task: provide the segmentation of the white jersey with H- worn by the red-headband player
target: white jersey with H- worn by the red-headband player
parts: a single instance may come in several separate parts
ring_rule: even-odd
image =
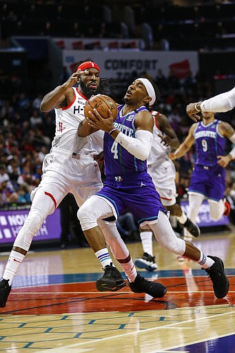
[[[88,137],[79,137],[77,130],[84,118],[84,106],[88,101],[77,88],[74,99],[65,108],[57,108],[56,131],[52,141],[52,148],[61,148],[68,152],[95,155],[103,151],[103,131],[99,130]]]

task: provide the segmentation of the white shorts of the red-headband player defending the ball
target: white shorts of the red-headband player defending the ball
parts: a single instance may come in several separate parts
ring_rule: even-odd
[[[57,208],[68,192],[71,192],[79,207],[89,196],[101,190],[103,183],[99,164],[92,156],[72,157],[71,152],[50,152],[43,160],[41,183],[31,193],[34,198],[38,188],[50,194]]]

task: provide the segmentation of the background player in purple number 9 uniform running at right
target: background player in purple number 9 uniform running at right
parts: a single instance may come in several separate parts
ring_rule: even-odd
[[[234,159],[235,148],[225,156],[227,139],[234,143],[235,132],[229,123],[215,119],[213,112],[202,112],[203,121],[191,126],[190,131],[171,159],[182,157],[193,143],[196,144],[196,162],[192,172],[187,215],[195,222],[203,199],[207,197],[212,219],[229,215],[229,203],[223,201],[225,192],[225,167]],[[190,240],[190,234],[185,231]],[[192,238],[191,238],[192,239]]]

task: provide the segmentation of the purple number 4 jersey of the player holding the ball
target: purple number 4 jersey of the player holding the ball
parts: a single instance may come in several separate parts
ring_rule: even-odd
[[[130,137],[135,137],[136,128],[134,127],[134,118],[138,112],[147,110],[145,106],[141,106],[137,110],[123,116],[123,105],[119,105],[114,128],[118,128]],[[148,111],[148,110],[147,110]],[[143,172],[147,170],[146,161],[141,161],[130,154],[117,143],[107,132],[105,132],[103,153],[105,161],[105,175],[125,175],[132,172]]]

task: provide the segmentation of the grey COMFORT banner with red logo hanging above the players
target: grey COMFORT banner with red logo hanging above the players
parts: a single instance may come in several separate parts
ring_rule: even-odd
[[[79,61],[96,61],[101,68],[101,77],[126,81],[132,72],[139,76],[143,72],[156,78],[157,71],[162,70],[165,77],[170,71],[179,79],[189,72],[195,76],[198,72],[198,53],[185,51],[134,51],[134,50],[63,50],[63,66],[70,73],[74,72]]]

